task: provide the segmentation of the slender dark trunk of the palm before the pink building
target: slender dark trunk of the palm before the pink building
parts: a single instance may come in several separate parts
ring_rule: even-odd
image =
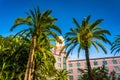
[[[92,73],[91,73],[90,59],[89,59],[89,50],[87,46],[85,49],[85,56],[86,56],[86,62],[87,62],[87,68],[88,68],[88,80],[93,80]]]

